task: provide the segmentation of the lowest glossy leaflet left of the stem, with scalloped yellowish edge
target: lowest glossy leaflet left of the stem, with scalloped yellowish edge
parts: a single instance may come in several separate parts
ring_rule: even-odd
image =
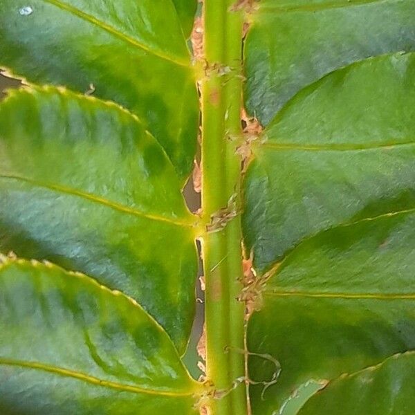
[[[138,304],[50,264],[3,261],[1,414],[196,414],[198,385]]]

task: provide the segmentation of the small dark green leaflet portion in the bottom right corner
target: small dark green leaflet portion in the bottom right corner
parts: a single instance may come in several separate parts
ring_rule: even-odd
[[[376,367],[334,380],[299,415],[413,414],[414,370],[414,353],[393,356]]]

